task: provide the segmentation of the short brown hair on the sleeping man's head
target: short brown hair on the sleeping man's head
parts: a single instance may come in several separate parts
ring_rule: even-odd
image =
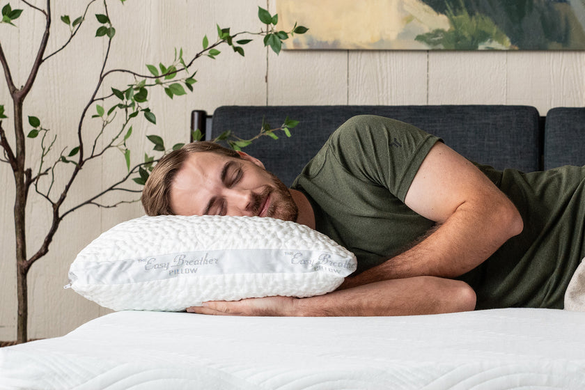
[[[171,185],[185,159],[192,153],[198,152],[241,158],[235,150],[209,141],[187,143],[182,148],[164,155],[155,165],[142,190],[141,201],[146,214],[150,216],[175,214],[171,208]]]

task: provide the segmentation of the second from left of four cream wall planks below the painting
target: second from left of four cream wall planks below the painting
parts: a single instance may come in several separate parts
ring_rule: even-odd
[[[348,73],[349,104],[426,104],[426,52],[352,51]]]

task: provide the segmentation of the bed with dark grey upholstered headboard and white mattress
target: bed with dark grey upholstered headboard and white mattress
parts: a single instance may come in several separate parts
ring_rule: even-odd
[[[299,120],[292,138],[246,150],[290,185],[328,134],[356,114],[414,123],[497,168],[585,165],[584,109],[545,117],[512,106],[221,107],[208,134],[255,134],[263,117],[272,127],[286,116]],[[249,318],[118,311],[63,337],[0,349],[0,389],[162,388],[585,389],[585,313]]]

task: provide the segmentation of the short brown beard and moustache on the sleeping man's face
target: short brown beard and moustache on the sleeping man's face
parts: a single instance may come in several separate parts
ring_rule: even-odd
[[[263,199],[270,195],[272,201],[266,212],[266,217],[282,219],[283,221],[297,221],[299,208],[292,199],[290,191],[274,173],[268,171],[266,173],[270,176],[272,186],[267,186],[262,194],[255,195],[255,214],[260,211]]]

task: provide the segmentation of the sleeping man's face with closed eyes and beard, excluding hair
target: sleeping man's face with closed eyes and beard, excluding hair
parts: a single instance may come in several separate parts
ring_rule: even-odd
[[[211,152],[192,153],[171,185],[178,215],[259,216],[296,221],[298,208],[288,188],[263,164]]]

